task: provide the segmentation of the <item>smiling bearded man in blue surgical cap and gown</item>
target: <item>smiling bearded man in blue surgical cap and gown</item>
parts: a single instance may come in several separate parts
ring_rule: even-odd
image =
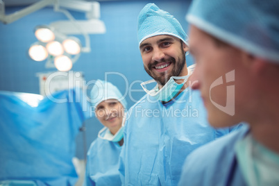
[[[187,35],[179,22],[155,4],[138,17],[144,69],[153,78],[142,83],[146,95],[129,110],[121,151],[122,185],[178,185],[186,156],[198,146],[230,132],[214,130],[198,91],[187,79]],[[155,83],[148,90],[149,83]]]

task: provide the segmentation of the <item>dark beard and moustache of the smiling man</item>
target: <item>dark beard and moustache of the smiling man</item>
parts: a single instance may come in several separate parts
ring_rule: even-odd
[[[168,58],[168,59],[164,58],[160,61],[160,62],[171,62],[174,65],[174,68],[171,70],[171,72],[169,74],[167,74],[168,71],[164,71],[164,72],[160,73],[159,76],[157,76],[153,73],[152,66],[157,65],[159,63],[158,61],[153,62],[153,64],[149,64],[148,67],[144,66],[144,69],[147,72],[147,74],[149,74],[149,76],[151,76],[155,81],[160,83],[160,85],[162,85],[162,86],[164,86],[167,83],[167,81],[169,81],[169,78],[171,78],[171,76],[179,76],[180,72],[183,70],[183,68],[186,64],[185,53],[184,53],[182,47],[181,47],[181,49],[182,49],[182,52],[181,52],[181,56],[178,57],[178,61],[176,61],[176,59],[172,58],[172,57]]]

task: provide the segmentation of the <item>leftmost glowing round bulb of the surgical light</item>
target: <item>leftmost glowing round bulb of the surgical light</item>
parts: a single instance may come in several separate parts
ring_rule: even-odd
[[[29,56],[35,61],[45,60],[47,59],[47,56],[49,56],[47,49],[41,44],[34,44],[31,46],[28,53]]]

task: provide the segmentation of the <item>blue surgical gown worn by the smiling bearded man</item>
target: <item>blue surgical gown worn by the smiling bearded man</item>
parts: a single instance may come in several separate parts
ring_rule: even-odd
[[[230,132],[214,130],[197,90],[185,89],[162,104],[149,95],[130,108],[120,157],[123,185],[178,185],[194,149]]]

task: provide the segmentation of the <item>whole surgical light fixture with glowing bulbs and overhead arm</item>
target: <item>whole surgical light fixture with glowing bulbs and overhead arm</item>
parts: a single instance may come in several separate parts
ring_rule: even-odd
[[[10,15],[6,15],[5,11],[1,10],[0,7],[0,22],[6,24],[14,22],[20,17],[49,5],[53,6],[54,11],[62,12],[69,20],[36,26],[35,37],[37,37],[42,46],[30,47],[28,53],[36,61],[47,59],[46,68],[56,67],[60,71],[68,71],[81,56],[81,52],[89,53],[91,51],[89,34],[105,33],[105,24],[99,20],[101,14],[98,2],[40,0]],[[66,9],[85,12],[86,19],[76,20]],[[68,35],[83,35],[85,46],[82,46],[78,38],[69,37]]]

